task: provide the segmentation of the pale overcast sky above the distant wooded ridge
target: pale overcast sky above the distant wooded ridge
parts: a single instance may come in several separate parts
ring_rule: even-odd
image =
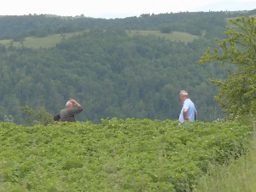
[[[3,0],[0,15],[52,14],[115,18],[179,11],[256,9],[256,0]]]

